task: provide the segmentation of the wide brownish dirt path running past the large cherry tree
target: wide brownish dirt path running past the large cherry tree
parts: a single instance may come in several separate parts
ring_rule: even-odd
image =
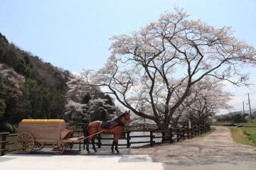
[[[256,147],[233,142],[228,128],[218,127],[206,137],[142,149],[130,154],[149,154],[165,169],[256,169]]]

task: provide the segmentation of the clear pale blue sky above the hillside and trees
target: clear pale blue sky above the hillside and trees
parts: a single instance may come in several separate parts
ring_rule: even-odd
[[[112,35],[138,30],[156,21],[161,13],[174,11],[174,6],[216,28],[232,26],[237,38],[256,47],[256,1],[253,0],[1,0],[0,33],[46,62],[81,72],[103,66],[110,55]],[[256,82],[256,69],[250,72],[252,81]],[[253,88],[228,86],[228,91],[236,95],[231,103],[235,106],[233,111],[242,108],[247,92],[252,93],[252,107],[256,108]]]

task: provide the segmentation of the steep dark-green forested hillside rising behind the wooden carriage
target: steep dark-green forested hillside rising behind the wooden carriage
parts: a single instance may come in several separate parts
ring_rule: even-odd
[[[63,118],[69,72],[10,43],[0,33],[0,128],[23,118]]]

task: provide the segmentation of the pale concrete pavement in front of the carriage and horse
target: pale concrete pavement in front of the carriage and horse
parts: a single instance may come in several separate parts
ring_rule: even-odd
[[[148,155],[10,154],[0,157],[1,170],[161,170]]]

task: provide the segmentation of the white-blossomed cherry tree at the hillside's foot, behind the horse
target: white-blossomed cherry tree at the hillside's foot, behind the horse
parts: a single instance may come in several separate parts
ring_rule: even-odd
[[[68,123],[107,120],[120,112],[110,96],[103,94],[99,87],[88,86],[82,76],[72,75],[67,85],[65,119]]]

